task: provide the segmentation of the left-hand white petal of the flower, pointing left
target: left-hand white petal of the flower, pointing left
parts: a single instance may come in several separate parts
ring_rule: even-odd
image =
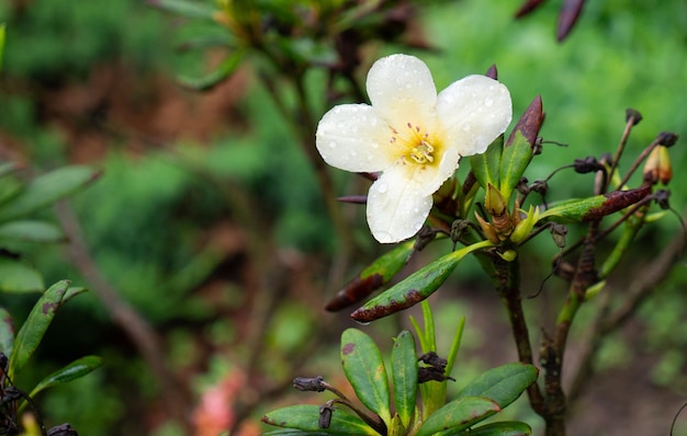
[[[391,153],[390,140],[390,127],[367,104],[333,107],[315,134],[325,162],[351,172],[382,171],[392,165],[397,156]]]

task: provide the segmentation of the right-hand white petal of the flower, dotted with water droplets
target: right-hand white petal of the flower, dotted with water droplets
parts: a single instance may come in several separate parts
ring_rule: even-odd
[[[486,76],[468,76],[441,91],[437,116],[447,147],[458,147],[461,156],[482,153],[510,124],[510,93]]]

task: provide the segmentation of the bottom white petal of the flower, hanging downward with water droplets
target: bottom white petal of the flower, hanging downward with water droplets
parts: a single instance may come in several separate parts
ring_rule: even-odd
[[[374,239],[393,243],[413,237],[425,223],[432,205],[431,194],[407,174],[408,167],[385,171],[368,193],[368,225]]]

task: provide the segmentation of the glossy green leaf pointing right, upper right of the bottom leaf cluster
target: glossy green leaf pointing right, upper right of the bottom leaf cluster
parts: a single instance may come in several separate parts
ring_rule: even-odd
[[[458,398],[484,397],[504,409],[537,381],[538,375],[539,371],[532,365],[519,362],[506,364],[483,372],[463,388]]]

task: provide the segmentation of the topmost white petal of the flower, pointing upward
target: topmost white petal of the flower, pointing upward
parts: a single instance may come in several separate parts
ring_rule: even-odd
[[[391,55],[379,59],[368,72],[372,107],[393,127],[407,123],[433,125],[437,88],[427,65],[415,56]]]

